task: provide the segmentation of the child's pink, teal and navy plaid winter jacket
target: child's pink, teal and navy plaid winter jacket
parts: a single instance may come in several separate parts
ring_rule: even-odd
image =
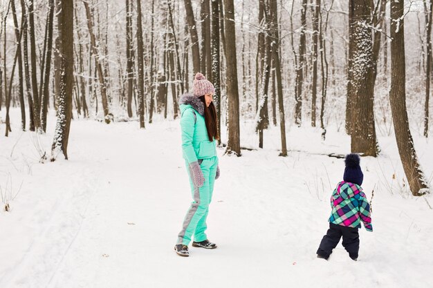
[[[370,204],[361,186],[344,181],[338,183],[331,196],[331,207],[329,222],[361,228],[362,221],[367,231],[373,231]]]

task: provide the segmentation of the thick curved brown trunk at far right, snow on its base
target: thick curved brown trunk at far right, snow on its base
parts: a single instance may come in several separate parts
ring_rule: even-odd
[[[398,153],[413,195],[428,192],[427,181],[416,157],[406,109],[404,1],[391,0],[391,90],[389,102],[394,120]]]

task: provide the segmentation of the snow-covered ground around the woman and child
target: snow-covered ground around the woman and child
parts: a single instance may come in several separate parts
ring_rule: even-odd
[[[70,160],[43,164],[55,118],[46,135],[12,124],[8,138],[0,128],[1,190],[19,191],[0,211],[1,288],[433,287],[433,197],[408,192],[392,135],[379,137],[380,157],[361,160],[374,232],[360,230],[358,262],[341,244],[329,261],[315,255],[344,171],[327,154],[350,150],[333,127],[326,142],[316,128],[289,128],[288,157],[278,157],[278,128],[265,132],[261,151],[228,157],[219,148],[208,218],[219,248],[190,247],[181,258],[173,247],[192,199],[178,121],[140,130],[75,119]],[[241,146],[257,148],[257,138],[243,123]],[[433,186],[432,139],[414,138]]]

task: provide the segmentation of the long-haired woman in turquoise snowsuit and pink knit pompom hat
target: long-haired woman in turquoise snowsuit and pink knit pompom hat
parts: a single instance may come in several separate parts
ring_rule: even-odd
[[[180,256],[189,256],[188,244],[194,236],[193,247],[214,249],[216,244],[208,240],[205,230],[209,204],[212,200],[215,179],[219,177],[216,155],[216,109],[212,102],[215,88],[201,73],[194,79],[192,94],[181,97],[182,151],[193,202],[187,211],[183,227],[178,234],[174,250]]]

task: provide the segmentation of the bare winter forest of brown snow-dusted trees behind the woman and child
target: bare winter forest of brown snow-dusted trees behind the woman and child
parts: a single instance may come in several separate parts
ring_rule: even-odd
[[[432,133],[432,10],[430,0],[0,0],[1,137],[17,133],[11,123],[44,134],[51,113],[48,157],[68,159],[75,119],[178,119],[201,72],[225,154],[242,155],[243,122],[258,148],[277,127],[282,157],[290,127],[316,127],[322,141],[336,127],[371,157],[378,136],[394,135],[410,190],[424,195],[413,135]]]

